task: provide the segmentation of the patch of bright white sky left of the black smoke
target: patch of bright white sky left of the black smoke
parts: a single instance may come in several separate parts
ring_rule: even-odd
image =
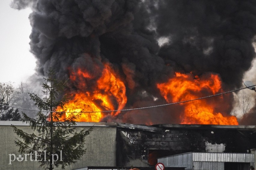
[[[31,9],[15,10],[11,0],[0,0],[0,82],[21,81],[34,74],[36,59],[29,52]]]

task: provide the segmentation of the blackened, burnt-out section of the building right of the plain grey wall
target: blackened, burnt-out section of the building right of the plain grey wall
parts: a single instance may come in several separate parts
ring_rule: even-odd
[[[136,163],[140,166],[155,165],[159,157],[186,152],[247,153],[247,150],[256,148],[255,127],[219,125],[156,125],[154,127],[158,131],[117,128],[118,166],[134,166]]]

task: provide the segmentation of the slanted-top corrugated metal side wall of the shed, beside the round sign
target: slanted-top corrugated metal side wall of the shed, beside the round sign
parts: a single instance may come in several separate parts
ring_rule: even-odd
[[[183,153],[159,158],[157,159],[157,162],[163,163],[165,167],[187,167],[192,169],[192,153]]]

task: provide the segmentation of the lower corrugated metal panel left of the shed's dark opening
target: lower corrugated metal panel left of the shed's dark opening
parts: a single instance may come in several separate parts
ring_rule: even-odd
[[[193,162],[196,170],[224,170],[224,162]]]

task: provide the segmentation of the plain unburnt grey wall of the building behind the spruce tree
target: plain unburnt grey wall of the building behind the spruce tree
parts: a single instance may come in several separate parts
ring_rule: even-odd
[[[17,126],[26,132],[31,132],[29,126]],[[78,126],[77,129],[89,129],[89,127]],[[35,161],[17,161],[9,164],[9,154],[17,155],[18,148],[14,144],[17,138],[11,126],[0,126],[0,169],[40,169],[39,164]],[[81,168],[85,166],[115,166],[116,165],[116,127],[97,127],[86,137],[87,153],[66,169]],[[44,169],[44,168],[41,168]],[[54,168],[61,169],[61,168]]]

